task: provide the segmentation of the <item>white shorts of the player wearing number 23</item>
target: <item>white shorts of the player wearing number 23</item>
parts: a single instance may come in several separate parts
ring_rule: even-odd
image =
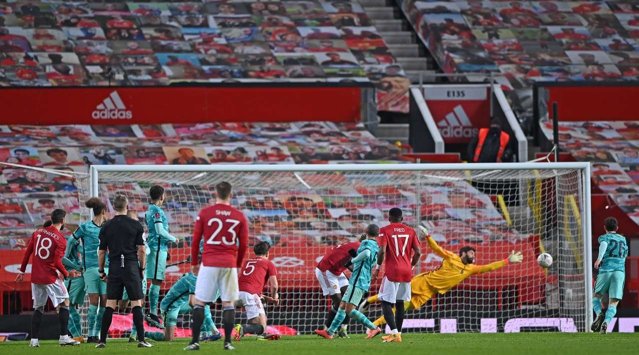
[[[202,302],[215,302],[220,292],[222,302],[238,299],[238,269],[235,267],[204,266],[197,272],[196,298]]]

